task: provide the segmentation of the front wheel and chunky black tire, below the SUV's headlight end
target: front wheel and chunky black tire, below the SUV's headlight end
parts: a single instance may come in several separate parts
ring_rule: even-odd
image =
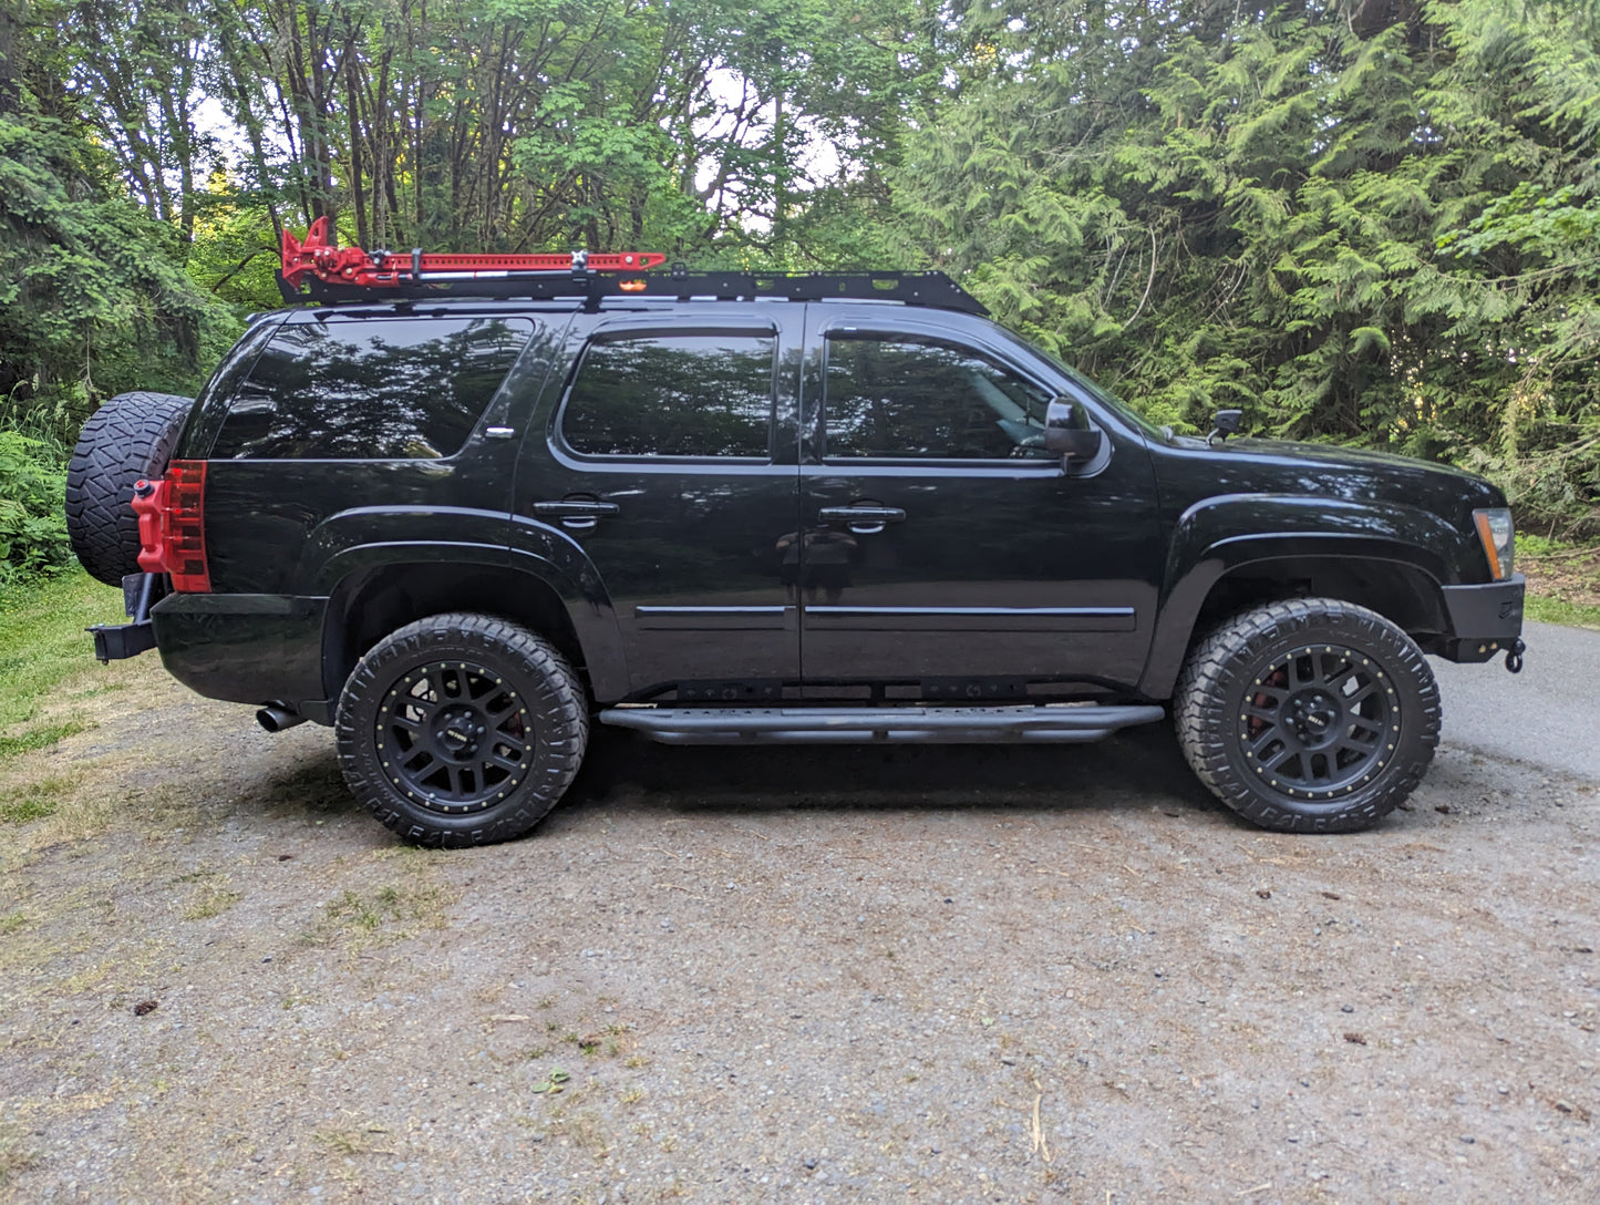
[[[1438,687],[1416,642],[1338,598],[1227,619],[1189,655],[1173,704],[1200,781],[1286,832],[1376,824],[1422,781],[1438,744]]]

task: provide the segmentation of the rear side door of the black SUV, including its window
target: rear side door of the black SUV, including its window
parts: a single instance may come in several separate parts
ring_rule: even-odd
[[[800,672],[803,307],[579,315],[571,370],[517,472],[610,598],[632,695],[776,698]]]

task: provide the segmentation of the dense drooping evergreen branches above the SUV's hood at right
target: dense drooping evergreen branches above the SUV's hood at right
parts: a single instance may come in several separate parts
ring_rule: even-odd
[[[896,218],[1158,421],[1451,458],[1600,531],[1595,11],[968,10]]]

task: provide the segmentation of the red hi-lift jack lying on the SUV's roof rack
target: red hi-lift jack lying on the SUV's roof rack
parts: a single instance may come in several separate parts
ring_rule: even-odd
[[[550,272],[643,272],[666,262],[659,251],[573,251],[571,254],[440,254],[422,251],[394,254],[336,246],[328,219],[318,218],[301,242],[283,232],[283,282],[299,290],[307,275],[325,285],[355,288],[402,288],[405,285],[454,283],[466,280],[515,280]]]

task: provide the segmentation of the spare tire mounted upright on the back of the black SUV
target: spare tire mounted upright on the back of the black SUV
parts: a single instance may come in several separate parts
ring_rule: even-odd
[[[139,571],[133,485],[166,472],[195,400],[176,394],[117,394],[90,414],[67,464],[67,534],[91,578],[122,586]]]

